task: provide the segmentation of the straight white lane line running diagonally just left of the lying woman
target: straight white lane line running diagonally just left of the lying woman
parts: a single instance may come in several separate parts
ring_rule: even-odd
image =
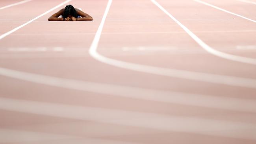
[[[67,3],[70,2],[70,1],[71,1],[71,0],[66,0],[65,2],[59,4],[59,5],[56,6],[56,7],[53,7],[52,9],[46,11],[45,13],[43,13],[43,14],[41,14],[41,15],[39,15],[39,16],[33,18],[32,20],[26,22],[25,24],[22,24],[21,26],[18,26],[17,28],[14,28],[13,30],[8,31],[7,33],[4,33],[4,34],[0,35],[0,40],[3,39],[4,37],[6,37],[7,35],[10,35],[11,33],[13,33],[13,32],[15,32],[15,31],[19,30],[20,28],[22,28],[22,27],[24,27],[24,26],[30,24],[30,23],[33,22],[34,20],[36,20],[36,19],[38,19],[38,18],[40,18],[40,17],[43,17],[43,16],[46,15],[47,13],[50,13],[50,12],[53,11],[54,9],[57,9],[58,7],[61,7],[61,6],[64,5],[64,4],[67,4]]]

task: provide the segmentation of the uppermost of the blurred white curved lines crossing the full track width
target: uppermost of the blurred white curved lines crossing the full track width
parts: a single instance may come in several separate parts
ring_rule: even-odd
[[[81,90],[85,92],[95,92],[98,94],[108,94],[125,98],[136,98],[164,103],[178,103],[183,105],[226,109],[233,111],[245,111],[253,113],[256,112],[256,100],[244,100],[242,98],[187,94],[181,92],[169,92],[164,90],[152,90],[121,85],[94,83],[89,81],[31,74],[28,72],[20,72],[6,68],[0,68],[0,75],[43,85]]]

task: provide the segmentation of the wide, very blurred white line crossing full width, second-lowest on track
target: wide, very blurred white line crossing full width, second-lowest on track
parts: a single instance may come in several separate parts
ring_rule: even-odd
[[[253,140],[256,139],[255,135],[248,135],[248,133],[244,133],[244,131],[250,131],[250,133],[255,134],[256,125],[245,122],[212,120],[192,116],[142,113],[118,109],[84,107],[9,98],[0,98],[0,109],[61,118],[90,120],[123,126],[144,127],[164,131],[189,132],[202,135],[246,138]]]

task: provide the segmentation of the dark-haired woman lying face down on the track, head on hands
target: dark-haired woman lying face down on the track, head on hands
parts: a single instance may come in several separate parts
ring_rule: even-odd
[[[61,17],[59,17],[61,16]],[[48,18],[49,21],[77,21],[77,20],[93,20],[93,18],[84,13],[80,9],[74,8],[72,5],[68,5],[65,9],[59,10]]]

